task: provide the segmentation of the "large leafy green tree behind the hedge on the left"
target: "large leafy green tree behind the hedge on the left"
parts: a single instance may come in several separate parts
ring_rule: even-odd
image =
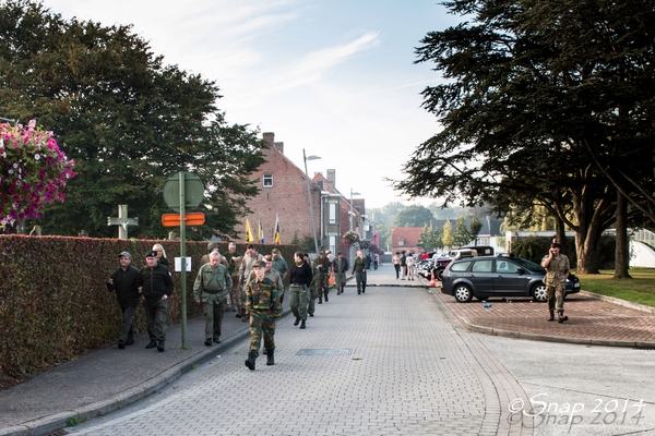
[[[75,161],[67,202],[46,209],[46,233],[111,237],[107,217],[127,204],[135,237],[163,238],[164,182],[179,171],[205,185],[205,226],[189,239],[235,237],[257,193],[249,175],[265,147],[247,125],[228,125],[214,82],[163,58],[130,26],[66,21],[40,2],[0,5],[0,114],[51,130]]]

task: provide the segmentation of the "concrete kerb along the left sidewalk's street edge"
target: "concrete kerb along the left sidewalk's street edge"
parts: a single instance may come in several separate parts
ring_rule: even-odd
[[[282,317],[287,316],[291,313],[290,308],[286,308],[282,313]],[[222,353],[225,350],[231,348],[236,342],[250,336],[250,329],[245,328],[242,331],[233,335],[226,340],[222,341],[218,347],[207,348],[196,354],[189,356],[183,362],[178,363],[175,366],[159,373],[155,377],[143,382],[130,389],[123,390],[107,399],[96,401],[86,404],[75,411],[57,413],[49,416],[44,416],[38,420],[26,422],[22,425],[13,427],[0,428],[0,436],[41,436],[48,435],[49,433],[57,432],[59,429],[69,426],[69,421],[76,420],[78,422],[88,421],[92,417],[105,415],[114,412],[115,410],[122,409],[130,405],[142,398],[150,396],[156,390],[163,388],[166,385],[175,382],[183,374],[193,370],[195,365],[201,365],[210,360],[214,359],[217,353]]]

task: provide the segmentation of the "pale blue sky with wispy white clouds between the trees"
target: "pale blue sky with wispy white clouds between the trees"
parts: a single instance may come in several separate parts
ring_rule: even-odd
[[[44,0],[64,19],[132,24],[164,63],[221,87],[229,123],[274,132],[310,174],[368,207],[402,201],[414,149],[439,130],[419,93],[440,82],[414,48],[458,22],[434,0]],[[425,202],[421,202],[425,203]]]

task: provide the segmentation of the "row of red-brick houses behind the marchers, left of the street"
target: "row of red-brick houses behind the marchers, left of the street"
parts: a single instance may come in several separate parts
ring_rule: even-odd
[[[295,238],[301,242],[312,235],[305,169],[285,156],[284,143],[275,142],[274,133],[263,133],[263,140],[269,145],[262,150],[265,162],[252,173],[260,191],[248,202],[252,213],[236,227],[241,235],[238,242],[246,242],[248,218],[254,239],[261,222],[265,242],[272,243],[276,215],[279,216],[281,243],[290,244]],[[348,231],[350,204],[335,187],[335,170],[327,170],[327,178],[315,173],[310,180],[310,192],[319,250],[344,251],[342,237]],[[361,202],[360,208],[364,208]],[[355,226],[364,230],[362,214],[355,207],[353,210]]]

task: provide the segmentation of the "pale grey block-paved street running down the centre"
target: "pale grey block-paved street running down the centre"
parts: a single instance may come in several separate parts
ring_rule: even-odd
[[[371,271],[373,276],[381,270]],[[395,284],[395,283],[394,283]],[[401,283],[398,283],[401,284]],[[409,283],[407,283],[409,284]],[[277,327],[275,366],[243,365],[248,340],[88,435],[519,435],[507,405],[527,397],[480,336],[455,330],[425,288],[353,287],[306,330]],[[309,355],[308,355],[309,354]]]

